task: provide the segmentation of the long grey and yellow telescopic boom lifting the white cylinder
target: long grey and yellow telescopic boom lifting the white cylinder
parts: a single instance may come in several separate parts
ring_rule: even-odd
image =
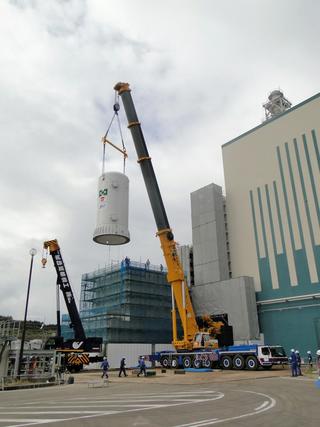
[[[189,290],[184,281],[184,273],[177,254],[176,242],[174,241],[174,236],[162,202],[151,157],[149,156],[141,125],[135,111],[130,93],[131,90],[128,83],[117,83],[114,89],[122,98],[128,119],[128,128],[132,134],[132,139],[138,155],[138,163],[141,167],[141,172],[158,229],[157,235],[160,238],[161,248],[168,268],[167,279],[171,284],[172,293],[173,345],[177,350],[192,349],[193,338],[199,328],[193,311]],[[183,339],[178,339],[177,336],[176,308],[178,309],[182,323]]]

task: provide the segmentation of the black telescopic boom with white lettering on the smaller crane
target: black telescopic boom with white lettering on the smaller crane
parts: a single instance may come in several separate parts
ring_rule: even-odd
[[[60,246],[57,240],[48,240],[44,242],[43,247],[46,251],[50,252],[53,263],[57,272],[57,283],[63,293],[63,297],[68,309],[71,320],[71,327],[74,330],[75,340],[84,341],[86,334],[84,332],[82,322],[79,316],[77,305],[73,296],[72,288],[68,279],[66,268],[60,252]],[[43,262],[45,265],[45,262]]]

